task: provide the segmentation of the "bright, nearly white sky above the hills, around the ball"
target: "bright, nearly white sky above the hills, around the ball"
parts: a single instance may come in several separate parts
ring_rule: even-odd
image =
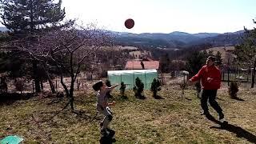
[[[256,0],[62,0],[66,18],[132,33],[225,33],[256,26]],[[127,30],[126,18],[135,26]]]

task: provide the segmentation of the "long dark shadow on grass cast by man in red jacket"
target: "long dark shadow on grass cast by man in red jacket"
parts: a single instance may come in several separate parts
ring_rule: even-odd
[[[234,134],[237,134],[238,138],[246,138],[247,141],[256,143],[256,136],[251,134],[249,131],[242,129],[240,126],[234,126],[229,123],[222,124],[217,119],[215,119],[212,115],[206,116],[210,121],[215,122],[221,126],[211,126],[210,129],[218,129],[218,130],[227,130]]]

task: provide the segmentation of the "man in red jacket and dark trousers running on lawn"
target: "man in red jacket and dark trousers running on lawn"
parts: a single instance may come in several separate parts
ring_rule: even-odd
[[[221,72],[217,66],[214,66],[215,58],[210,56],[206,60],[206,66],[202,66],[198,74],[190,78],[190,82],[196,82],[201,80],[202,82],[202,98],[201,106],[202,110],[206,117],[210,116],[207,101],[209,99],[210,106],[218,112],[218,118],[220,121],[223,120],[224,114],[222,113],[222,108],[218,105],[218,102],[215,101],[217,90],[221,86]]]

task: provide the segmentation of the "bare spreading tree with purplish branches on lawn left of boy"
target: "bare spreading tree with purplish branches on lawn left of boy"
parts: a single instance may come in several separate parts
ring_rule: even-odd
[[[74,110],[74,83],[82,64],[102,46],[110,44],[111,38],[106,31],[98,30],[94,25],[52,31],[39,40],[35,56],[46,66],[57,68],[66,96],[70,98],[71,110]],[[70,78],[70,86],[63,81],[64,76]]]

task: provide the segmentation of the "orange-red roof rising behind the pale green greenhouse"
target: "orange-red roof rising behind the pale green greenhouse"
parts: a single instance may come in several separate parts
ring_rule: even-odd
[[[152,61],[152,62],[143,61],[143,64],[144,64],[145,70],[159,69],[158,61]],[[128,61],[126,63],[126,70],[142,70],[142,64],[141,62]]]

